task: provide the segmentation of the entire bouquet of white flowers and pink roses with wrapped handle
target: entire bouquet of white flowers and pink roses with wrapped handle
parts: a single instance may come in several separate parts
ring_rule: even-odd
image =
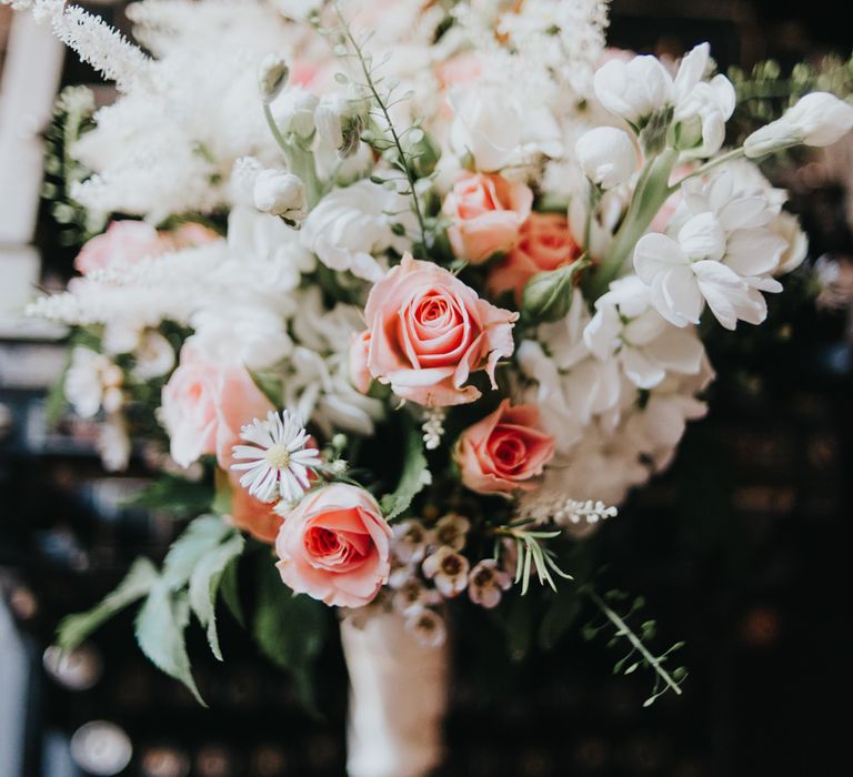
[[[91,127],[62,95],[90,239],[31,312],[72,327],[64,397],[108,467],[136,450],[162,472],[140,500],[192,518],[61,647],[141,603],[140,647],[201,699],[184,632],[222,658],[221,599],[307,698],[335,612],[371,777],[439,761],[456,609],[559,633],[583,597],[649,702],[679,693],[580,575],[584,537],[705,414],[701,334],[761,324],[806,254],[755,160],[832,143],[853,107],[812,93],[725,148],[708,44],[608,50],[596,0],[144,0],[150,53],[14,4],[119,91]]]

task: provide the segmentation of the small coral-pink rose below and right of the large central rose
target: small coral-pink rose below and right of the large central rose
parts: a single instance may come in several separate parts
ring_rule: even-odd
[[[535,488],[532,478],[554,455],[554,438],[538,424],[533,405],[511,407],[504,400],[494,413],[469,426],[453,451],[462,483],[480,494]]]

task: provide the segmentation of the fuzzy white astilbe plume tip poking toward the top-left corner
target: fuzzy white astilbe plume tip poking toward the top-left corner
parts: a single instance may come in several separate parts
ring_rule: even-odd
[[[99,17],[63,0],[37,0],[37,21],[49,21],[53,33],[106,79],[126,92],[144,77],[151,60]]]

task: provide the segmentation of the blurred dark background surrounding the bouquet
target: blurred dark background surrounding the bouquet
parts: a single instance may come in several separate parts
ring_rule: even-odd
[[[610,40],[673,56],[709,40],[722,70],[770,57],[784,68],[849,57],[847,7],[618,0]],[[120,9],[98,8],[122,23]],[[3,7],[0,60],[8,23]],[[63,83],[92,81],[67,58]],[[794,172],[805,162],[809,175]],[[792,188],[810,261],[824,256],[849,278],[853,172],[820,158],[774,174]],[[43,222],[41,241],[56,246]],[[68,273],[64,252],[44,259],[48,274]],[[761,330],[711,339],[720,380],[709,417],[595,538],[608,585],[645,596],[663,643],[686,640],[684,695],[643,708],[650,678],[614,676],[619,656],[601,642],[569,637],[523,665],[499,656],[484,667],[460,634],[442,775],[850,774],[851,299],[836,279],[815,306],[809,282],[791,280]],[[201,644],[192,650],[207,710],[142,658],[129,616],[71,665],[58,669],[46,654],[62,615],[91,606],[137,555],[162,555],[174,533],[169,519],[122,506],[150,474],[140,461],[106,476],[92,424],[48,427],[58,364],[61,346],[49,340],[0,337],[0,777],[114,774],[81,769],[71,751],[109,765],[128,746],[121,774],[138,777],[342,775],[345,675],[334,644],[321,663],[321,719],[224,617],[227,664],[207,660]]]

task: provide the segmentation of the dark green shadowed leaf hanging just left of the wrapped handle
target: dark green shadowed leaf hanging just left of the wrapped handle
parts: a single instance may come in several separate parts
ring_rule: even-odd
[[[300,702],[314,715],[312,670],[325,640],[328,615],[322,602],[294,594],[282,583],[272,559],[261,556],[252,635],[261,653],[290,673]]]

